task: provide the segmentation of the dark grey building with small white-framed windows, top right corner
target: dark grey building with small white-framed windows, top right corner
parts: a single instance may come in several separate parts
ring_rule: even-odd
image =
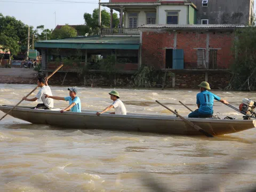
[[[197,7],[197,24],[252,23],[254,0],[191,0]]]

